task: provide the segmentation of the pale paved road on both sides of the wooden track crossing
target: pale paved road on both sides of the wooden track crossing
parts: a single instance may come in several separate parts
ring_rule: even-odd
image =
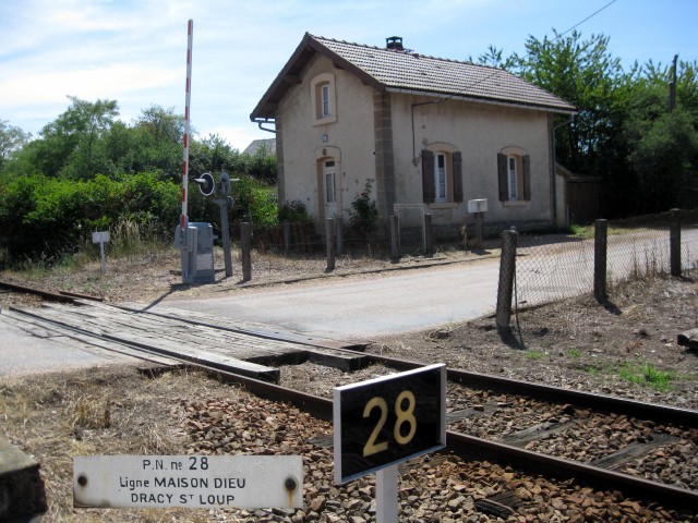
[[[698,230],[683,232],[684,266],[695,267]],[[665,242],[665,240],[660,241]],[[526,263],[522,252],[517,268],[519,303],[549,301],[591,290],[593,250],[579,242],[576,254],[547,254],[542,265]],[[618,267],[654,260],[655,239],[613,239],[610,244],[627,244],[625,253],[610,256],[612,278]],[[648,245],[648,248],[645,247]],[[689,248],[690,247],[690,248]],[[649,253],[649,254],[648,254]],[[649,256],[649,258],[648,258]],[[534,256],[529,256],[531,259]],[[474,264],[455,264],[408,271],[385,272],[351,279],[323,279],[310,283],[234,292],[226,297],[177,301],[168,297],[158,307],[178,307],[234,319],[241,324],[263,324],[269,330],[288,329],[309,336],[338,340],[368,340],[383,335],[436,328],[460,323],[494,312],[498,279],[498,259]],[[627,267],[621,273],[627,272]],[[570,278],[570,275],[575,275]],[[586,275],[586,276],[585,276]],[[582,276],[585,276],[582,278]],[[581,285],[581,287],[580,287]],[[21,336],[12,326],[3,325],[0,314],[0,377],[28,370],[22,360],[8,360],[9,349],[24,362],[38,362],[44,368],[108,363],[105,357],[65,343],[57,338]],[[60,355],[59,355],[60,354]],[[28,358],[26,356],[29,356]]]

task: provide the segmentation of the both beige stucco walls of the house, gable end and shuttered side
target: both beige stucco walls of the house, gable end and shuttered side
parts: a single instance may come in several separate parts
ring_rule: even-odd
[[[322,73],[335,78],[336,121],[314,124],[312,80]],[[395,159],[395,202],[422,203],[420,150],[434,143],[449,144],[462,154],[464,202],[431,204],[434,224],[461,224],[472,219],[467,200],[488,198],[485,222],[551,223],[553,185],[549,150],[549,113],[524,108],[390,94]],[[412,129],[412,105],[414,125]],[[373,89],[325,57],[317,56],[292,86],[280,107],[284,173],[287,202],[300,200],[317,221],[325,217],[320,205],[317,160],[323,150],[338,162],[337,214],[345,218],[351,200],[373,182],[375,198],[375,136]],[[414,135],[412,136],[412,133]],[[497,190],[497,153],[515,146],[530,155],[531,199],[502,203]],[[322,191],[322,187],[320,187]]]

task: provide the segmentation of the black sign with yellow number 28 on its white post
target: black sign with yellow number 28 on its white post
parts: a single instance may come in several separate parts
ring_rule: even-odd
[[[446,447],[446,365],[334,389],[335,483],[376,473],[376,521],[397,521],[397,465]]]

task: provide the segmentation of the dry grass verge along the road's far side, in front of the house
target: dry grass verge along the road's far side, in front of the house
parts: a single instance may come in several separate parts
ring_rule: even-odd
[[[497,251],[492,250],[493,253]],[[402,256],[399,264],[393,264],[387,257],[371,256],[365,253],[342,254],[337,257],[335,270],[326,272],[324,252],[290,253],[289,255],[252,252],[252,280],[242,284],[242,263],[240,252],[232,252],[232,277],[226,278],[222,251],[214,248],[216,281],[206,285],[184,285],[181,278],[180,254],[170,245],[149,245],[130,253],[128,256],[107,257],[107,273],[100,273],[98,252],[89,256],[77,256],[73,263],[50,270],[38,267],[32,270],[2,273],[10,281],[29,282],[43,289],[71,291],[100,296],[112,303],[152,302],[165,295],[194,296],[213,295],[219,291],[236,291],[255,285],[266,285],[281,281],[328,276],[348,276],[374,270],[409,268],[425,263],[449,263],[465,259],[481,259],[482,256],[456,248],[445,248],[433,256]],[[0,295],[0,305],[7,306],[16,300],[14,296]]]

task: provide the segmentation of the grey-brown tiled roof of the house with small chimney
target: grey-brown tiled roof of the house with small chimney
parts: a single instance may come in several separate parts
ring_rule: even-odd
[[[276,104],[288,89],[288,75],[299,75],[314,53],[329,58],[380,90],[421,93],[528,106],[555,112],[576,112],[571,104],[503,69],[305,34],[301,45],[251,114],[253,120],[274,118]]]

